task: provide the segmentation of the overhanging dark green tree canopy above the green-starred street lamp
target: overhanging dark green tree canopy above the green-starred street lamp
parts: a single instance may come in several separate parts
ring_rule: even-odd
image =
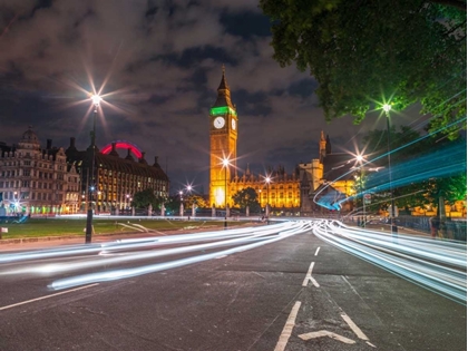
[[[466,1],[261,0],[272,19],[273,58],[320,84],[325,118],[359,124],[391,103],[420,103],[430,130],[466,128]],[[460,124],[458,124],[460,121]]]

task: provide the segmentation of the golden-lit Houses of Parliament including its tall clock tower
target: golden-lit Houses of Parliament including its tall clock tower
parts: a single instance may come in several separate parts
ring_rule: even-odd
[[[233,195],[251,187],[259,194],[260,205],[277,213],[312,214],[318,209],[313,197],[325,183],[323,175],[331,165],[343,162],[349,155],[332,154],[329,137],[321,133],[319,158],[298,164],[292,173],[284,167],[267,169],[266,174],[253,174],[247,165],[241,175],[236,164],[240,119],[232,103],[223,67],[217,98],[209,109],[209,204],[213,207],[234,206]],[[325,173],[324,173],[325,169]],[[333,196],[350,196],[353,178],[343,177],[333,183]],[[350,204],[345,204],[350,205]],[[348,208],[350,209],[350,208]]]

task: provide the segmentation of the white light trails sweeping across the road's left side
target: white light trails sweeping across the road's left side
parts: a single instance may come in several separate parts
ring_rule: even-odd
[[[204,251],[216,251],[209,254],[194,255],[175,261],[149,264],[144,266],[130,267],[126,270],[109,270],[100,273],[84,274],[80,276],[59,280],[49,285],[49,287],[59,290],[67,286],[78,286],[86,284],[86,281],[109,281],[125,279],[140,274],[169,270],[186,264],[193,264],[207,260],[227,256],[246,250],[252,250],[261,245],[270,244],[283,240],[291,235],[311,232],[310,221],[291,221],[272,224],[260,227],[243,227],[228,231],[204,232],[195,234],[182,234],[164,237],[144,237],[134,240],[120,240],[117,242],[79,245],[71,247],[59,247],[43,250],[40,252],[26,252],[18,254],[0,255],[0,263],[11,265],[17,262],[37,261],[37,260],[58,260],[50,264],[40,264],[33,262],[30,265],[22,265],[20,269],[4,269],[0,275],[7,274],[60,274],[76,270],[108,266],[109,264],[130,263],[140,260],[152,260],[176,254],[187,254]],[[205,242],[205,243],[199,243]],[[163,248],[166,245],[186,245],[182,247]],[[227,250],[217,251],[225,246],[233,246]],[[157,248],[157,250],[155,250]],[[125,252],[130,250],[130,252]],[[134,251],[145,250],[145,251]],[[82,256],[82,255],[86,256]],[[69,262],[71,255],[81,255],[79,262]],[[111,255],[111,256],[108,256]],[[85,260],[82,260],[85,259]]]

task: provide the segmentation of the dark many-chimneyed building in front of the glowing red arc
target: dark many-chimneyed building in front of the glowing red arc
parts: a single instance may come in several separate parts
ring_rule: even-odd
[[[70,138],[70,145],[65,152],[68,165],[76,166],[80,174],[80,211],[85,212],[89,204],[97,213],[115,213],[130,209],[130,203],[135,193],[152,188],[156,196],[168,197],[169,178],[158,164],[157,157],[153,165],[145,159],[145,153],[140,158],[131,156],[131,148],[121,158],[116,144],[111,143],[109,154],[95,152],[94,172],[88,162],[89,148],[78,150],[75,138]],[[88,197],[90,196],[90,198]]]

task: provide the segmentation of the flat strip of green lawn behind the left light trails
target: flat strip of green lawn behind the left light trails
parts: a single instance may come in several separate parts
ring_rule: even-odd
[[[135,233],[137,225],[148,230],[168,231],[181,228],[221,227],[223,221],[168,221],[168,220],[128,220],[128,218],[95,218],[92,221],[95,234]],[[240,223],[236,223],[240,225]],[[8,233],[1,233],[1,238],[82,235],[85,236],[86,218],[30,218],[26,223],[0,223]]]

